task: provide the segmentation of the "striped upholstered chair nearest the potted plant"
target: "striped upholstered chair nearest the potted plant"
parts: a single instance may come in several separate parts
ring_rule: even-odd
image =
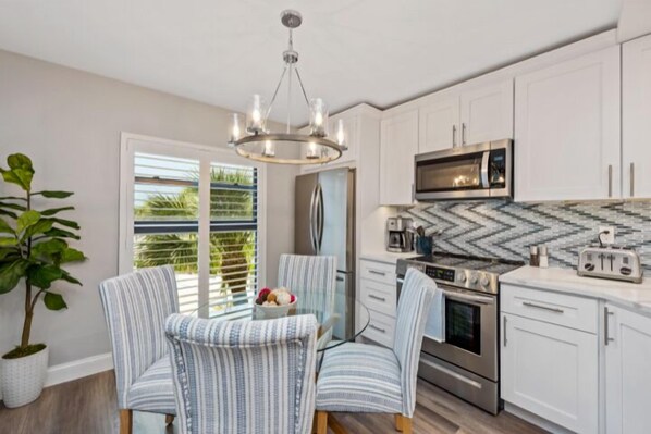
[[[164,321],[179,312],[171,266],[146,269],[99,285],[109,335],[120,409],[120,434],[131,434],[132,410],[176,414]]]

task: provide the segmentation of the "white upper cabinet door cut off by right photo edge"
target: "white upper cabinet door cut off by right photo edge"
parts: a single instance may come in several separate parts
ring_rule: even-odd
[[[624,197],[651,197],[651,36],[623,49]]]

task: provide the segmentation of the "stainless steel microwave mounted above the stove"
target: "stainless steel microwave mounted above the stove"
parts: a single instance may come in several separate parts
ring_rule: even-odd
[[[414,173],[416,200],[513,198],[513,140],[420,153]]]

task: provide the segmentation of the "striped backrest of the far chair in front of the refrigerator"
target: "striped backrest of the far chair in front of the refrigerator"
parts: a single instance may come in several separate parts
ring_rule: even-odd
[[[333,312],[336,257],[281,255],[278,286],[287,287],[296,294],[302,307]]]

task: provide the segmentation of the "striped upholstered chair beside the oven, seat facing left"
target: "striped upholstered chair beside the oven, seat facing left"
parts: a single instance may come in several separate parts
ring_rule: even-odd
[[[412,433],[422,334],[437,290],[434,281],[407,271],[393,348],[347,343],[326,351],[317,382],[318,434],[326,434],[330,411],[393,413],[396,430]]]

